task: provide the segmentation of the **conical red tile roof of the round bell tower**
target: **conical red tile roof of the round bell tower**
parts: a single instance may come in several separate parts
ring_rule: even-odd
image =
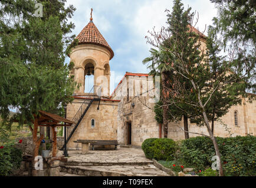
[[[97,27],[93,24],[92,19],[87,24],[87,26],[85,26],[84,29],[77,35],[76,39],[78,39],[78,45],[84,43],[93,43],[96,45],[100,45],[109,49],[111,53],[110,59],[112,59],[114,56],[113,50],[111,49],[107,41],[104,39],[104,37],[101,35]]]

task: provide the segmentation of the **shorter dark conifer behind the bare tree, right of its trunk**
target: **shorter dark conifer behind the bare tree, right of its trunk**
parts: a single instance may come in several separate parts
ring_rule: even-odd
[[[210,27],[208,30],[208,37],[206,39],[207,54],[205,62],[209,65],[209,78],[211,80],[219,79],[219,75],[222,75],[225,69],[223,69],[222,62],[225,61],[226,56],[221,56],[220,42],[215,41],[215,33]],[[212,95],[212,99],[207,103],[206,115],[211,120],[211,130],[214,133],[214,122],[219,117],[224,116],[231,106],[241,103],[241,96],[245,96],[245,83],[233,83],[228,85],[227,88],[222,90],[216,90]],[[190,118],[192,123],[197,125],[204,125],[204,120],[200,115],[194,115]]]

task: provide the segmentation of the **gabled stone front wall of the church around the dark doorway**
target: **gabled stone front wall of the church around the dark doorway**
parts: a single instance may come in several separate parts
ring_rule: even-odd
[[[133,85],[133,90],[129,88],[129,82],[137,82]],[[134,81],[135,80],[135,81]],[[141,146],[142,142],[150,137],[159,136],[159,123],[155,120],[155,113],[152,108],[155,103],[149,103],[149,96],[142,94],[146,76],[126,76],[122,84],[116,89],[113,99],[119,99],[117,114],[117,138],[121,145],[127,145],[127,123],[132,125],[132,145]],[[135,93],[135,87],[139,86],[140,93]],[[129,88],[129,98],[126,90]],[[151,89],[151,88],[150,88]],[[132,105],[134,104],[134,105]],[[145,104],[145,105],[143,105]],[[151,108],[151,109],[150,109]]]

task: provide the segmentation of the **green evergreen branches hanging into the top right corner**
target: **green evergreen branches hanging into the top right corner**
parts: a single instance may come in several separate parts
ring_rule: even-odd
[[[213,19],[215,40],[220,36],[225,50],[234,51],[237,61],[247,63],[247,91],[256,93],[256,2],[253,0],[211,0],[218,9]],[[219,35],[218,35],[219,34]]]

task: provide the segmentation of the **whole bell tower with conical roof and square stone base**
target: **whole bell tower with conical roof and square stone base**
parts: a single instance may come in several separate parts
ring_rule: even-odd
[[[67,105],[67,119],[76,122],[68,128],[68,149],[79,149],[78,139],[117,140],[117,105],[109,99],[110,65],[114,52],[93,23],[93,18],[77,35],[78,45],[70,53],[74,69],[70,75],[80,84],[74,101]],[[93,77],[91,92],[84,92],[84,82]]]

